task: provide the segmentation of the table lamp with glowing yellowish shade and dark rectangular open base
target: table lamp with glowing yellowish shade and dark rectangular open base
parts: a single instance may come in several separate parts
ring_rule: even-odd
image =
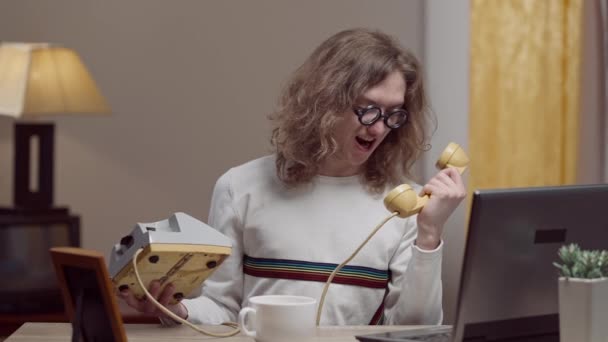
[[[75,51],[46,43],[0,43],[0,115],[16,119],[11,210],[65,210],[53,207],[54,124],[41,120],[109,111]]]

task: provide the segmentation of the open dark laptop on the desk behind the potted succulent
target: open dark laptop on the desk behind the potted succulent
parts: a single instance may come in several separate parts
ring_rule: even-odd
[[[608,249],[608,184],[473,194],[453,328],[356,336],[361,342],[559,342],[557,251]]]

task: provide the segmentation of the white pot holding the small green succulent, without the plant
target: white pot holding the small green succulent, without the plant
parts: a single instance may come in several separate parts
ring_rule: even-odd
[[[608,278],[559,278],[560,342],[608,342]]]

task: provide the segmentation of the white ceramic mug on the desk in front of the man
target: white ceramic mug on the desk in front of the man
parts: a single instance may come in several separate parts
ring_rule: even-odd
[[[294,341],[315,335],[317,301],[314,298],[256,296],[249,298],[249,305],[239,312],[239,326],[258,342]]]

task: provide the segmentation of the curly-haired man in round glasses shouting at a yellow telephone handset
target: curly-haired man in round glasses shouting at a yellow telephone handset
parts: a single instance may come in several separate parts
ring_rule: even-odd
[[[386,216],[383,196],[411,183],[432,122],[418,60],[368,29],[339,32],[317,47],[270,118],[275,153],[228,170],[215,185],[209,225],[232,239],[232,255],[200,297],[169,306],[191,322],[236,321],[256,295],[319,298],[328,273]],[[466,191],[451,168],[413,186],[429,202],[418,215],[387,223],[346,266],[321,324],[442,322],[441,234]],[[173,295],[157,282],[150,292],[163,304]]]

